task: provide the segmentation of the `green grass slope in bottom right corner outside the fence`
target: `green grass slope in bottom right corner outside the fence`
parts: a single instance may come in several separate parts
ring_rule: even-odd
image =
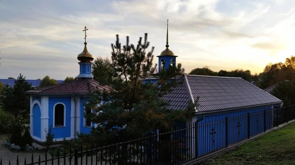
[[[295,122],[201,165],[295,165]]]

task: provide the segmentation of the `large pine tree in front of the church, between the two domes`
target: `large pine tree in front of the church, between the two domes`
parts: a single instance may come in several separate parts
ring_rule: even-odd
[[[171,129],[177,119],[192,114],[191,108],[168,110],[167,102],[161,99],[172,87],[182,83],[177,81],[181,64],[161,71],[157,83],[143,83],[157,67],[152,64],[154,47],[148,51],[149,45],[147,33],[139,38],[136,46],[129,44],[128,36],[126,45],[121,46],[118,35],[116,43],[111,45],[115,72],[113,81],[107,84],[110,91],[91,94],[89,103],[85,104],[86,112],[94,111],[85,115],[86,118],[98,124],[91,131],[92,142],[107,145],[148,136],[156,129]],[[101,104],[102,100],[106,103]],[[126,147],[123,145],[122,150]],[[121,155],[122,158],[126,156]]]

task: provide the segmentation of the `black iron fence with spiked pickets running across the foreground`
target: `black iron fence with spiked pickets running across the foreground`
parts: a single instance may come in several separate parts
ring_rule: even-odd
[[[157,130],[148,137],[107,146],[60,147],[57,154],[32,154],[30,159],[18,157],[13,165],[20,165],[20,162],[22,165],[179,165],[218,152],[294,118],[295,105],[263,108],[244,114],[205,118],[175,131]]]

